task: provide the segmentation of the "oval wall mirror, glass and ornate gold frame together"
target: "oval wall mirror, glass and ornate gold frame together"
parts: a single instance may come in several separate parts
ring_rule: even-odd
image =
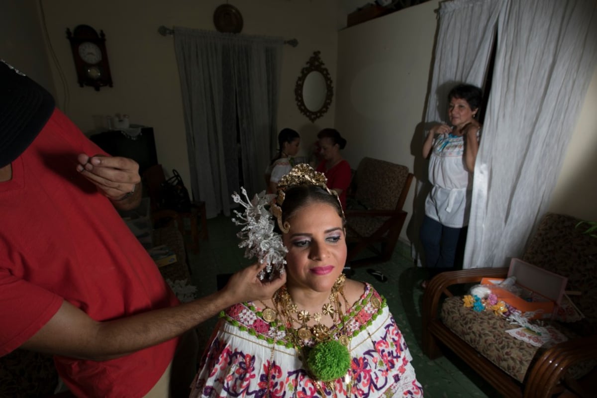
[[[301,70],[294,88],[298,110],[315,122],[328,112],[333,96],[330,72],[319,58],[319,51],[315,51],[307,61],[307,66]]]

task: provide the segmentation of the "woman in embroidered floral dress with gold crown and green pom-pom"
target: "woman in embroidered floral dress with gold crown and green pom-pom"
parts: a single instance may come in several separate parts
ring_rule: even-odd
[[[250,216],[259,213],[275,223],[263,204],[245,207],[250,221],[262,225]],[[295,166],[271,211],[278,233],[255,240],[284,244],[287,283],[270,300],[221,314],[191,397],[421,397],[386,301],[341,273],[344,214],[324,175]],[[273,273],[284,271],[283,252]]]

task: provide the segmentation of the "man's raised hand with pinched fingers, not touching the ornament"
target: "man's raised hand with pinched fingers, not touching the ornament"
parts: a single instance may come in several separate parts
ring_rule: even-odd
[[[84,153],[77,159],[77,171],[110,200],[122,199],[136,191],[136,185],[141,182],[139,165],[132,159],[103,155],[90,157]]]

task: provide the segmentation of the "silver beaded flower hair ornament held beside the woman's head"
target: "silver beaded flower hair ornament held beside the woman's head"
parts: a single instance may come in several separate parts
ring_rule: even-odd
[[[261,264],[267,264],[265,269],[259,273],[259,279],[273,276],[276,271],[278,274],[284,273],[284,264],[288,249],[282,243],[282,236],[273,232],[275,219],[267,210],[273,195],[266,195],[265,191],[254,196],[250,200],[247,196],[247,190],[241,187],[241,193],[247,199],[246,202],[238,193],[233,193],[232,199],[235,203],[244,206],[245,212],[234,211],[237,218],[232,218],[232,222],[238,226],[243,226],[241,231],[236,234],[242,242],[239,248],[245,248],[245,258],[255,258]]]

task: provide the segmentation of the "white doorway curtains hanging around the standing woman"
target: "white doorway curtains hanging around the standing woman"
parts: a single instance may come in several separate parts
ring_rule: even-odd
[[[428,122],[445,118],[454,82],[482,84],[497,37],[464,268],[506,266],[546,212],[595,69],[596,18],[594,0],[441,4]]]

